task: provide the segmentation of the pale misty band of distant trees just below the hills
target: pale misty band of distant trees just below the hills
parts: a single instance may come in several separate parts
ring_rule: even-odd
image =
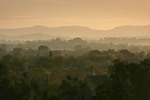
[[[90,50],[108,50],[114,49],[115,51],[121,49],[128,49],[131,52],[145,51],[149,52],[149,38],[104,38],[96,41],[83,40],[81,38],[74,38],[64,40],[56,38],[51,40],[33,40],[33,41],[5,41],[0,43],[0,48],[6,51],[12,51],[13,48],[33,49],[37,50],[40,45],[46,45],[49,49],[71,49],[82,50],[82,54]],[[137,43],[137,44],[134,44]]]

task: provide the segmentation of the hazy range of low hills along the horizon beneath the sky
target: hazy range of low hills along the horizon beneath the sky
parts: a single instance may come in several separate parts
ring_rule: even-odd
[[[94,30],[83,26],[62,26],[62,27],[45,27],[33,26],[15,29],[0,29],[1,38],[19,38],[19,39],[44,39],[48,37],[143,37],[150,36],[150,25],[147,26],[119,26],[111,30]]]

